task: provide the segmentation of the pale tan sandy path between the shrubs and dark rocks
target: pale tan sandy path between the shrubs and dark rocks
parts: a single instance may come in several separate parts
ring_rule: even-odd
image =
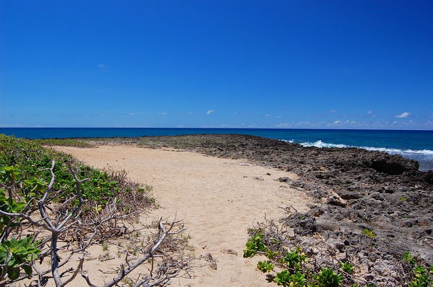
[[[292,205],[307,211],[309,198],[300,191],[275,181],[293,174],[245,161],[207,157],[192,152],[154,150],[130,146],[101,146],[93,149],[59,147],[98,168],[125,169],[129,177],[154,188],[162,208],[150,216],[173,216],[177,212],[191,232],[194,255],[210,252],[217,270],[196,268],[194,279],[178,278],[173,283],[191,286],[269,285],[255,270],[259,257],[244,259],[253,222],[279,218],[279,207]],[[269,175],[266,175],[270,173]],[[221,252],[233,249],[238,255]]]

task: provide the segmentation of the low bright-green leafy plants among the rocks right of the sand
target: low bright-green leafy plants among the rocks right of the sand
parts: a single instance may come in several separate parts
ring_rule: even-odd
[[[268,273],[266,276],[279,285],[307,287],[381,285],[377,285],[374,278],[367,281],[360,273],[363,268],[362,263],[357,261],[359,264],[357,266],[350,260],[355,260],[354,258],[346,254],[345,258],[336,259],[335,250],[314,251],[312,246],[307,246],[308,250],[304,250],[300,241],[283,235],[273,221],[266,221],[259,224],[257,228],[250,228],[248,233],[250,238],[246,243],[246,249],[243,250],[243,256],[248,258],[255,255],[266,256],[267,260],[257,263],[257,269]],[[372,229],[365,228],[360,236],[373,239],[376,234]],[[401,255],[399,266],[402,286],[432,286],[433,267],[425,266],[410,252]]]

